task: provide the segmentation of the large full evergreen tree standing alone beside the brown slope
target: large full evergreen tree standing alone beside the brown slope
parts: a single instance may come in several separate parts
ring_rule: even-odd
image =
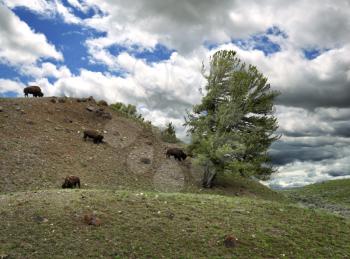
[[[253,65],[234,51],[218,51],[210,60],[206,95],[188,113],[190,152],[205,165],[203,186],[212,187],[217,173],[269,176],[267,150],[278,139],[273,101],[278,92]]]

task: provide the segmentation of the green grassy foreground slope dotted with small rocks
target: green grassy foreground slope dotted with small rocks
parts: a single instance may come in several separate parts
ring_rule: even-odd
[[[9,258],[348,258],[350,223],[293,205],[219,195],[49,190],[0,195]],[[94,213],[100,226],[82,218]],[[226,248],[226,235],[238,245]]]

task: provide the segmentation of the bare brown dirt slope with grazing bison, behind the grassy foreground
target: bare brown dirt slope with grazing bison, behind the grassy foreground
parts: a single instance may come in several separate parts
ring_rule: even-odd
[[[194,183],[189,161],[166,159],[166,144],[150,128],[94,101],[0,99],[0,192],[59,188],[67,175],[83,188],[180,191]],[[104,132],[106,143],[83,141],[84,129]],[[150,163],[143,163],[148,158]]]

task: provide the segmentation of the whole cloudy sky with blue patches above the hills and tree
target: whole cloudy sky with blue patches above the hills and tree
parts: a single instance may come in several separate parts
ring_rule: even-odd
[[[130,103],[183,139],[202,64],[221,49],[281,92],[266,184],[350,177],[349,0],[0,0],[0,97],[35,84]]]

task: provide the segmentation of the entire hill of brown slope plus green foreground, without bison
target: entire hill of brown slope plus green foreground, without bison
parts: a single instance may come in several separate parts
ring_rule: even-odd
[[[105,143],[84,141],[84,129]],[[0,99],[0,139],[0,258],[350,256],[348,218],[239,176],[203,190],[190,157],[165,156],[184,144],[94,100]],[[82,188],[61,189],[66,175]]]

